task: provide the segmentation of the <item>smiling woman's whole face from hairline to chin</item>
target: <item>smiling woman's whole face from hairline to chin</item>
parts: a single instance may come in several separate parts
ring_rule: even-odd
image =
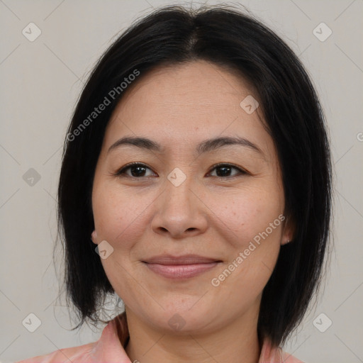
[[[106,241],[113,289],[162,330],[257,322],[289,237],[277,152],[259,108],[251,112],[258,95],[204,61],[130,87],[106,128],[92,191],[94,242]],[[118,142],[125,137],[152,143]],[[208,143],[215,138],[240,143]]]

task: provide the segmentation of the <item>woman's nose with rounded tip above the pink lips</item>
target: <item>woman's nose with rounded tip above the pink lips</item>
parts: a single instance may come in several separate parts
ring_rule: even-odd
[[[179,186],[169,180],[155,201],[152,230],[170,238],[182,239],[203,233],[208,225],[208,207],[195,184],[187,177]]]

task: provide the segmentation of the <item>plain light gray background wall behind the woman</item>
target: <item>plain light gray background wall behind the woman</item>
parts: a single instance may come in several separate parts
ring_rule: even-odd
[[[73,324],[65,299],[57,298],[62,256],[56,255],[54,266],[52,250],[62,142],[94,62],[136,18],[164,4],[185,3],[0,0],[1,362],[86,344],[101,335],[103,325],[99,330],[84,325],[78,333],[70,331]],[[284,348],[307,363],[363,362],[363,1],[235,4],[247,6],[300,55],[320,94],[330,128],[335,247],[318,303]],[[30,22],[42,32],[33,42],[22,33]],[[333,31],[324,41],[313,33],[322,22]],[[316,31],[320,38],[328,34],[321,26]],[[30,168],[39,180],[34,171],[28,172]],[[113,301],[110,318],[121,311],[112,311],[112,307]],[[34,333],[22,324],[30,313],[41,321]],[[315,320],[320,313],[326,316]],[[315,328],[314,320],[323,330],[328,319],[333,324],[324,333]]]

